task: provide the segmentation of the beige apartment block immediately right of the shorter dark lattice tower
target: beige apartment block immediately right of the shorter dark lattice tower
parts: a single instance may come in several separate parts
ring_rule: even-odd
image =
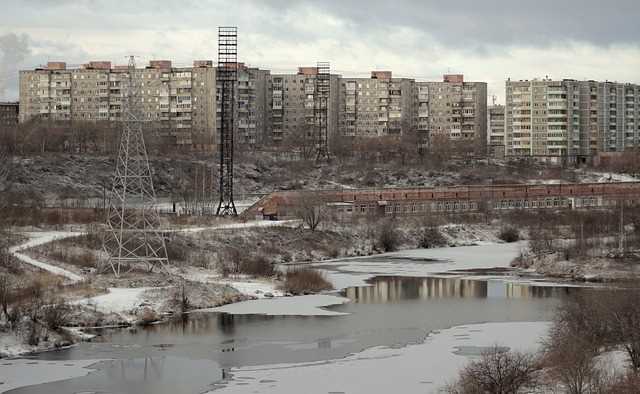
[[[341,78],[340,125],[348,137],[400,136],[415,127],[412,79],[391,71],[372,71],[371,78]]]

